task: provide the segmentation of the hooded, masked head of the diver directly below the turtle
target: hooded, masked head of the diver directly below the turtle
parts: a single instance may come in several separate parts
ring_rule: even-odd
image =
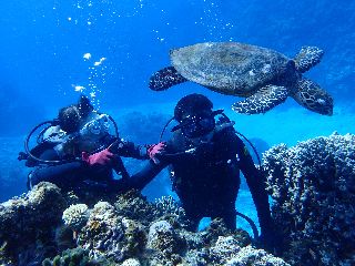
[[[204,95],[193,93],[182,98],[174,110],[179,122],[173,131],[181,130],[189,139],[201,137],[215,127],[213,103]]]

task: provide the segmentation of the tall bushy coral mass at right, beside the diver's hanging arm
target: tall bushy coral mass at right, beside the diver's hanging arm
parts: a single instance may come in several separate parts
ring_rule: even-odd
[[[354,265],[355,135],[281,144],[263,160],[287,260]]]

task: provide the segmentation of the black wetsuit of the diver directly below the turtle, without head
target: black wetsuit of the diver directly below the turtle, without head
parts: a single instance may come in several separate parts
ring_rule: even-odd
[[[186,152],[193,147],[192,153]],[[257,209],[262,234],[271,228],[264,180],[233,126],[215,131],[211,141],[197,146],[176,131],[166,143],[160,164],[150,161],[142,172],[129,180],[130,186],[142,190],[168,165],[171,165],[173,190],[194,227],[202,217],[221,217],[230,228],[235,228],[241,170]]]

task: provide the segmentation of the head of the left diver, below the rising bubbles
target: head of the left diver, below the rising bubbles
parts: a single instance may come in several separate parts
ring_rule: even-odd
[[[68,134],[79,130],[81,115],[77,105],[62,108],[58,114],[58,121],[61,130]]]

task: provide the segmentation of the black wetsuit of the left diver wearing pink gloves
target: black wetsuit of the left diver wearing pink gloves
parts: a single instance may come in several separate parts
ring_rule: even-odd
[[[115,155],[110,165],[93,165],[90,166],[81,158],[67,158],[65,162],[55,165],[36,165],[37,162],[29,160],[28,166],[36,166],[29,175],[29,186],[32,187],[40,182],[51,182],[57,184],[64,191],[80,191],[80,190],[101,190],[106,193],[119,193],[122,191],[122,182],[113,178],[114,170],[123,180],[129,178],[129,174],[122,163],[120,156],[133,158],[149,158],[146,155],[146,146],[134,145],[132,142],[126,142],[122,139],[114,139],[112,136],[105,137],[102,143],[104,146],[110,145],[114,141],[115,144],[110,151]],[[42,143],[32,150],[41,160],[57,161],[60,160],[51,143]]]

